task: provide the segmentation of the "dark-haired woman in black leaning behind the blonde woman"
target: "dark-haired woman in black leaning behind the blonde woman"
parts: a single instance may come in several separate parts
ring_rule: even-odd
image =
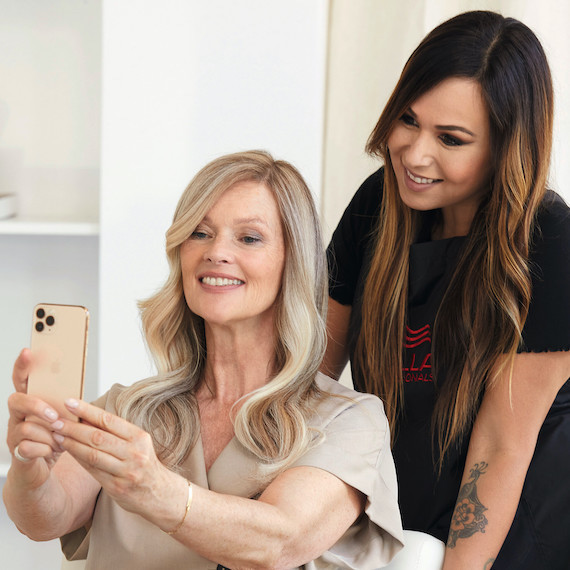
[[[329,246],[327,371],[393,431],[404,528],[445,570],[570,567],[570,213],[522,23],[461,14],[408,60]]]

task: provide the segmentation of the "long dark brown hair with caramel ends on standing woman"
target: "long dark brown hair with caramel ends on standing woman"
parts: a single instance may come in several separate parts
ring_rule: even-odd
[[[399,197],[387,141],[412,103],[451,77],[481,87],[493,164],[434,325],[436,383],[437,371],[446,371],[433,413],[440,466],[468,433],[485,388],[521,344],[531,299],[529,245],[546,190],[553,122],[544,50],[517,20],[485,11],[460,14],[429,33],[406,63],[367,144],[369,153],[384,160],[384,197],[355,354],[366,389],[385,401],[393,432],[403,404],[408,257],[419,215]]]

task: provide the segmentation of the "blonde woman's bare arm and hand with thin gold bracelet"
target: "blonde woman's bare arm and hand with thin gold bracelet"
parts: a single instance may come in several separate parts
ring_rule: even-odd
[[[188,484],[158,460],[147,432],[85,402],[68,407],[84,421],[63,422],[56,440],[117,505],[224,566],[299,566],[335,544],[364,508],[360,492],[306,466],[280,473],[257,501],[193,485],[185,515]]]

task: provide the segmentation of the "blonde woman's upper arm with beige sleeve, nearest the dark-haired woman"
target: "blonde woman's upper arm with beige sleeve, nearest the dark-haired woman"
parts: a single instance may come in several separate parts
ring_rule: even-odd
[[[332,418],[316,426],[324,440],[280,474],[261,500],[282,510],[295,529],[291,540],[312,549],[306,554],[314,558],[327,550],[377,568],[402,541],[388,421],[378,398],[352,393],[352,399],[327,382],[339,397],[324,400],[318,410],[320,417]],[[326,390],[326,384],[321,387]],[[353,524],[358,529],[345,535]]]

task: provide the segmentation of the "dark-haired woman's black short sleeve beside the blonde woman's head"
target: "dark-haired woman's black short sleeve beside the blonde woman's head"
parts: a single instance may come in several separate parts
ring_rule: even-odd
[[[384,168],[369,176],[353,196],[327,248],[329,295],[352,305],[358,276],[382,202]]]

